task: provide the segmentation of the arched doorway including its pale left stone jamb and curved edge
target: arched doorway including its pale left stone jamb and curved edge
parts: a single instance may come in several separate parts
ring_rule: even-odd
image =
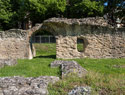
[[[33,28],[28,30],[29,41],[29,58],[36,57],[56,58],[56,32],[52,27],[47,27],[43,24],[36,24]],[[38,50],[39,47],[39,50]],[[42,50],[46,49],[44,53]],[[51,52],[53,49],[53,53]],[[38,54],[39,52],[39,54]]]

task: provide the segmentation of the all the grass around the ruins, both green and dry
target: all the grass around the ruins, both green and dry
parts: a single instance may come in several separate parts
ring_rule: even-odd
[[[80,45],[81,46],[81,45]],[[0,69],[0,77],[24,76],[38,77],[43,75],[59,76],[59,68],[50,68],[56,58],[55,44],[35,44],[37,56],[32,60],[18,60],[15,66]],[[88,70],[87,76],[71,76],[49,85],[50,95],[67,95],[77,86],[91,86],[92,95],[125,95],[125,58],[123,59],[73,59]],[[123,67],[122,67],[123,66]]]

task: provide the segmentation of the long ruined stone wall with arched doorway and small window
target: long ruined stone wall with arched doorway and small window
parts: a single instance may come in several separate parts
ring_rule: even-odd
[[[0,59],[32,59],[31,38],[40,29],[55,35],[57,58],[125,58],[125,28],[110,27],[102,18],[51,18],[29,30],[1,31]],[[83,52],[77,50],[78,39]]]

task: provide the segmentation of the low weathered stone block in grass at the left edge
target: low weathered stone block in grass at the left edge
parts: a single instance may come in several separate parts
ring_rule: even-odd
[[[17,64],[16,59],[0,59],[0,68]]]

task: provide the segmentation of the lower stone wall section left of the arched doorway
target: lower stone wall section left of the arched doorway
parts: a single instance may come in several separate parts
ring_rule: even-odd
[[[0,59],[32,59],[36,51],[31,37],[41,28],[41,25],[38,24],[29,30],[0,31]]]

